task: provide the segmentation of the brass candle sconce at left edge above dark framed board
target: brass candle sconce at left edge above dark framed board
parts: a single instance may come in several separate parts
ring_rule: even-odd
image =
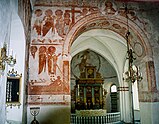
[[[5,64],[13,67],[16,63],[16,58],[13,58],[13,54],[7,56],[7,45],[5,44],[3,48],[0,48],[0,73],[5,70]]]

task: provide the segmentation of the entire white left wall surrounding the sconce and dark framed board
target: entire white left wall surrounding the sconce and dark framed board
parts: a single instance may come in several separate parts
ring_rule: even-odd
[[[21,85],[21,106],[5,107],[5,92],[6,92],[6,73],[12,68],[6,65],[4,74],[0,76],[0,124],[7,122],[22,123],[23,112],[23,84],[24,84],[24,57],[25,57],[25,39],[24,30],[21,20],[18,16],[18,0],[1,0],[0,1],[0,47],[3,47],[4,42],[7,43],[7,54],[9,55],[11,49],[17,59],[17,64],[14,70],[19,74],[22,73]],[[16,113],[16,114],[15,114]]]

